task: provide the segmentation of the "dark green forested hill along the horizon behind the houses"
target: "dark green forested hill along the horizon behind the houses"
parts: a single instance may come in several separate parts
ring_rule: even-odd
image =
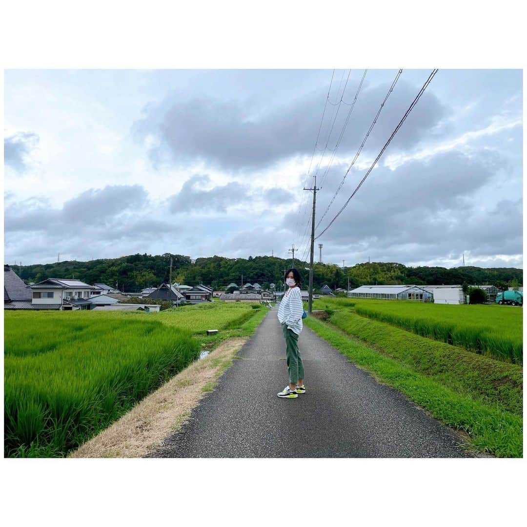
[[[76,278],[88,284],[101,282],[112,287],[118,285],[121,291],[137,292],[144,287],[158,286],[169,279],[170,257],[172,256],[172,282],[196,285],[200,282],[214,290],[222,289],[231,282],[240,285],[258,282],[262,287],[276,284],[281,288],[284,269],[291,266],[291,260],[270,256],[249,256],[245,258],[223,258],[212,256],[198,258],[192,264],[190,257],[182,255],[131,255],[114,259],[63,261],[54,264],[12,266],[26,282],[38,282],[46,278]],[[295,267],[307,288],[309,264],[295,259]],[[327,284],[331,289],[375,284],[494,284],[500,288],[523,284],[523,270],[509,267],[482,268],[457,267],[406,267],[403,264],[366,262],[346,267],[335,264],[315,264],[313,285],[315,289]]]

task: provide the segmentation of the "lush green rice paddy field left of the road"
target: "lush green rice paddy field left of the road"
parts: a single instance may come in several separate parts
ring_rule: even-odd
[[[231,334],[252,331],[251,304],[161,313],[4,312],[4,455],[62,457]],[[203,337],[207,329],[220,335]]]

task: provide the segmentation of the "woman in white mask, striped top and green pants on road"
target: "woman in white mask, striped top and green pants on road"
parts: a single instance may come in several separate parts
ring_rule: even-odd
[[[300,295],[300,275],[296,269],[289,269],[284,279],[289,289],[282,297],[278,308],[278,320],[282,325],[282,334],[286,340],[286,361],[289,374],[289,386],[278,397],[294,398],[306,393],[304,386],[304,364],[298,349],[298,336],[302,331],[302,296]]]

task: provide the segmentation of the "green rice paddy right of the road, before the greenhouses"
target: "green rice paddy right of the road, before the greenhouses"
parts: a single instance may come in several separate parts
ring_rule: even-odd
[[[523,364],[523,309],[520,307],[356,298],[320,298],[314,301],[313,306],[314,309],[325,309],[326,306],[353,308],[358,315],[392,324],[417,335],[504,362]]]

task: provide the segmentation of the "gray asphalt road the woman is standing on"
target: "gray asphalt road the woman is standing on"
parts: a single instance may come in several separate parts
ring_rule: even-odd
[[[299,347],[307,392],[278,398],[288,379],[277,311],[182,430],[149,457],[472,457],[453,431],[306,326]]]

